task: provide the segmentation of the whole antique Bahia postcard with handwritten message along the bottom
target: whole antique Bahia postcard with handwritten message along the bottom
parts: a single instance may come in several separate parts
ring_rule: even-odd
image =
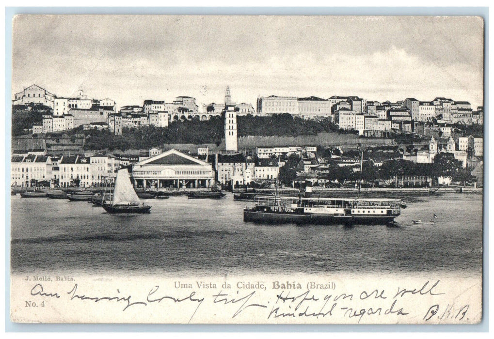
[[[478,324],[483,81],[476,16],[16,15],[11,321]]]

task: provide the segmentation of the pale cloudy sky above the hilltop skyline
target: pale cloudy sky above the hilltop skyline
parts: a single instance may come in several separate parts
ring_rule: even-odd
[[[19,15],[12,93],[80,87],[117,107],[355,95],[483,106],[479,17]]]

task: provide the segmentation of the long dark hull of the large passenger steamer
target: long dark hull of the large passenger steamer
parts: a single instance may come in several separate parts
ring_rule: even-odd
[[[335,216],[244,210],[244,221],[259,224],[388,225],[397,216]]]

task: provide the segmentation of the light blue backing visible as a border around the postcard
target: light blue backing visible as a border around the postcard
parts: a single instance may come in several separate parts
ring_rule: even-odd
[[[5,189],[6,332],[488,332],[489,331],[489,7],[6,7],[5,156],[11,154],[12,18],[16,14],[189,14],[189,15],[475,15],[484,18],[484,279],[483,321],[478,325],[130,325],[17,324],[10,321],[10,192]],[[385,32],[383,32],[385,34]],[[10,162],[5,161],[5,183]],[[8,188],[10,185],[5,185]]]

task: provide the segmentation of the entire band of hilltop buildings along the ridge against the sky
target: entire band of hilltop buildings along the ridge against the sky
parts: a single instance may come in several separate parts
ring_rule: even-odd
[[[289,113],[304,119],[329,117],[342,130],[358,131],[366,137],[390,138],[393,131],[416,132],[421,124],[431,121],[442,126],[452,124],[483,124],[483,107],[474,111],[466,101],[438,97],[432,101],[407,98],[398,102],[367,101],[357,96],[332,96],[323,99],[310,97],[283,97],[271,95],[257,99],[256,110],[250,104],[236,104],[231,100],[227,86],[224,103],[203,104],[189,96],[165,100],[144,100],[142,106],[123,106],[116,110],[111,99],[88,99],[82,90],[70,98],[57,97],[37,85],[31,85],[14,95],[14,105],[43,104],[53,113],[43,115],[33,125],[33,134],[86,128],[109,129],[121,134],[124,127],[144,125],[167,127],[170,122],[186,119],[208,120],[229,110],[236,115]]]

